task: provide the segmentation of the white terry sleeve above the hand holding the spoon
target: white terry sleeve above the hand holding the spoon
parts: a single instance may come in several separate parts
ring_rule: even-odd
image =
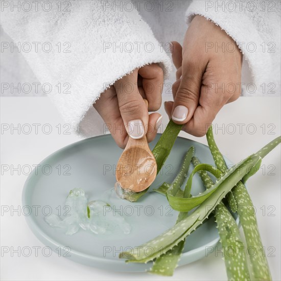
[[[2,1],[4,31],[21,44],[40,83],[51,85],[45,91],[65,122],[83,136],[103,133],[92,104],[114,81],[149,63],[159,63],[165,77],[170,72],[169,57],[129,4]]]

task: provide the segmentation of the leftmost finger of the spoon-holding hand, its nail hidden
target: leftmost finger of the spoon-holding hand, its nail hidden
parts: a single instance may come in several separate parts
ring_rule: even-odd
[[[101,94],[101,97],[93,104],[105,125],[110,131],[115,143],[120,148],[125,148],[128,142],[123,119],[120,114],[118,99],[113,86]]]

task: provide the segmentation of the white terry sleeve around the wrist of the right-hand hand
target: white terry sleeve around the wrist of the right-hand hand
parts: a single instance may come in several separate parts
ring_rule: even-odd
[[[188,24],[195,15],[204,16],[236,41],[244,56],[242,74],[245,67],[251,73],[242,95],[280,95],[280,3],[193,1],[186,11]]]

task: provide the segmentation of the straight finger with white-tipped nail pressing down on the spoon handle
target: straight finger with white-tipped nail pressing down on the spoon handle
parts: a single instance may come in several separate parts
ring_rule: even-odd
[[[127,133],[134,139],[146,134],[148,109],[137,88],[137,69],[114,83]]]

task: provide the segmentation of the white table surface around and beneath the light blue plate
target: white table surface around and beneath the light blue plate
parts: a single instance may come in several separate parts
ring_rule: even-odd
[[[161,108],[163,124],[168,117]],[[44,97],[3,97],[1,98],[1,123],[20,126],[41,124],[36,134],[33,129],[29,134],[16,130],[1,133],[1,206],[14,209],[22,206],[21,193],[28,169],[18,175],[5,171],[13,165],[36,165],[52,152],[80,138],[75,134],[59,134],[58,124],[65,124],[48,98]],[[42,132],[43,124],[51,124],[52,133]],[[223,127],[215,135],[224,155],[233,162],[255,152],[271,139],[280,135],[280,98],[240,98],[226,105],[217,115],[215,126]],[[232,124],[232,125],[231,125]],[[245,125],[238,125],[245,124]],[[26,127],[27,128],[27,127]],[[216,127],[215,127],[216,128]],[[236,129],[232,133],[233,128]],[[241,129],[241,133],[240,130]],[[256,129],[255,133],[252,130]],[[216,133],[216,131],[215,131]],[[271,133],[271,134],[270,134]],[[196,139],[206,144],[205,137],[196,138],[186,133],[182,136]],[[8,166],[7,166],[8,165]],[[261,237],[268,256],[268,262],[274,280],[280,280],[280,146],[264,160],[255,176],[248,181],[248,189],[259,223]],[[25,166],[28,167],[28,166]],[[271,169],[274,168],[274,171]],[[25,174],[24,174],[25,173]],[[271,175],[275,174],[275,175]],[[263,210],[265,213],[263,213]],[[272,211],[272,212],[271,212]],[[274,216],[269,216],[274,215]],[[11,250],[24,247],[38,247],[26,257]],[[5,248],[4,248],[5,247]],[[10,250],[5,253],[5,249]],[[12,248],[13,247],[13,248]],[[33,247],[33,248],[32,248]],[[218,253],[176,269],[173,277],[162,277],[146,273],[116,273],[99,270],[74,263],[57,253],[46,257],[42,254],[44,245],[29,229],[25,216],[16,212],[1,212],[1,279],[2,280],[225,280],[227,279],[224,262]]]

